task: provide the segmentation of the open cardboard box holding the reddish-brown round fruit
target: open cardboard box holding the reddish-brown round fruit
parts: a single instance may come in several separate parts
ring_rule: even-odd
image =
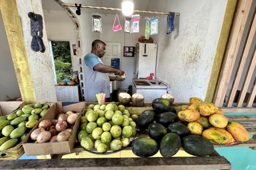
[[[52,120],[60,113],[66,113],[67,111],[80,112],[78,119],[73,127],[71,137],[68,141],[63,142],[45,142],[45,143],[32,143],[34,142],[30,139],[30,136],[25,139],[23,143],[23,148],[27,156],[32,155],[48,155],[48,154],[60,154],[60,153],[70,153],[76,142],[76,132],[79,128],[79,122],[81,114],[84,114],[85,102],[56,102],[56,105],[52,106],[52,109],[49,110],[42,120]],[[34,127],[32,130],[35,130],[37,127]]]

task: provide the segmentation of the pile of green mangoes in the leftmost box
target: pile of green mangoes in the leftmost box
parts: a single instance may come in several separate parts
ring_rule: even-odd
[[[0,151],[7,150],[22,142],[48,108],[48,105],[42,106],[38,102],[34,107],[25,105],[15,113],[0,116]]]

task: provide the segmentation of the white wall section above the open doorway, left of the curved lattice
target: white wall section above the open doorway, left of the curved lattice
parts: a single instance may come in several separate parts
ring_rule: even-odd
[[[72,45],[76,45],[74,24],[65,11],[44,10],[44,22],[47,39],[51,41],[69,41],[73,71],[78,71],[77,56]]]

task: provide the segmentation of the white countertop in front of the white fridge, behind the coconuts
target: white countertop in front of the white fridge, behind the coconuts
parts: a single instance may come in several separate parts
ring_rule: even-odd
[[[158,84],[159,82],[156,80],[150,80],[150,79],[132,79],[134,86],[136,88],[151,88],[151,89],[167,89],[167,85],[163,84],[162,82],[160,84]],[[136,82],[141,82],[141,81],[145,81],[148,82],[149,85],[136,85]],[[155,82],[152,83],[152,82]]]

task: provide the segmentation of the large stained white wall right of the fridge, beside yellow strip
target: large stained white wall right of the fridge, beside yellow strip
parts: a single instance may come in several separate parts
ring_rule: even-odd
[[[204,99],[221,32],[227,0],[167,0],[165,11],[179,12],[175,31],[166,34],[166,18],[160,15],[156,77],[170,85],[175,102],[192,96]],[[157,8],[149,6],[148,10]],[[165,23],[165,24],[164,24]]]

